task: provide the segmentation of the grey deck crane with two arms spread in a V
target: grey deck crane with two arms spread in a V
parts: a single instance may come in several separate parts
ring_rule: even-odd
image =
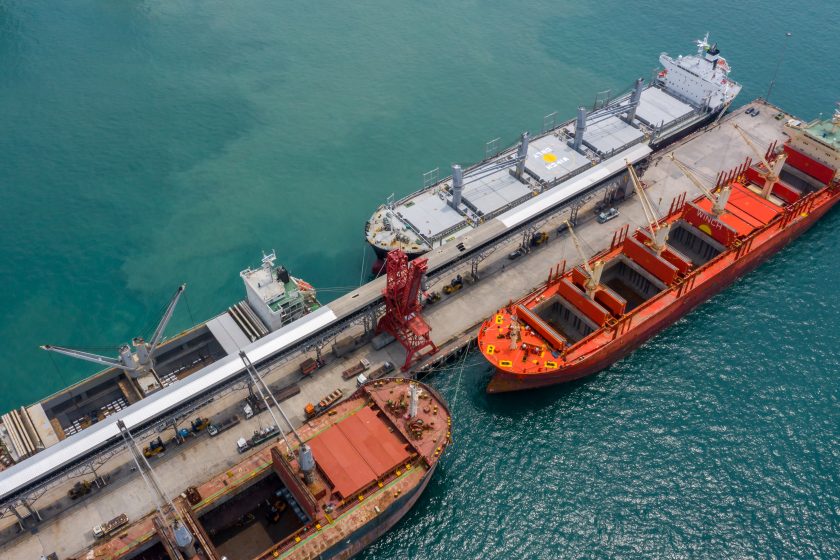
[[[169,324],[169,320],[172,319],[172,314],[175,312],[175,306],[178,304],[178,299],[180,299],[181,294],[184,293],[186,287],[186,284],[178,286],[178,289],[175,291],[172,299],[169,300],[169,305],[167,305],[166,311],[164,312],[163,317],[161,317],[160,322],[155,329],[155,333],[152,335],[152,339],[149,342],[146,342],[139,336],[132,340],[134,352],[131,351],[128,344],[120,346],[119,358],[109,358],[107,356],[100,356],[98,354],[92,354],[82,350],[74,350],[73,348],[64,348],[63,346],[53,346],[50,344],[41,346],[41,349],[93,362],[94,364],[99,364],[100,366],[118,368],[128,372],[134,379],[142,377],[146,374],[151,374],[155,377],[155,379],[157,379],[158,383],[160,383],[160,379],[158,379],[157,373],[154,369],[155,352],[160,346],[160,343],[163,341],[163,331]]]

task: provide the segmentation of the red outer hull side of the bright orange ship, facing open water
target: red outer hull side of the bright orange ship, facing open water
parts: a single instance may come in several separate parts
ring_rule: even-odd
[[[704,283],[704,287],[692,290],[683,297],[662,309],[654,318],[645,321],[636,328],[623,334],[614,342],[604,345],[591,356],[572,364],[562,370],[555,370],[542,374],[515,374],[507,370],[496,369],[490,383],[488,393],[506,393],[536,389],[559,383],[566,383],[582,379],[609,367],[616,361],[627,356],[654,335],[669,327],[681,317],[692,311],[701,303],[721,292],[735,280],[756,269],[770,257],[778,253],[788,243],[802,235],[820,220],[840,200],[840,193],[834,193],[823,204],[812,209],[807,217],[791,224],[784,231],[773,236],[753,251],[747,253],[740,260],[717,273],[714,282]]]

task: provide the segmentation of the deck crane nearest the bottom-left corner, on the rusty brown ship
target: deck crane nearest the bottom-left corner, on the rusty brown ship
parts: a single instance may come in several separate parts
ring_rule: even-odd
[[[143,482],[146,483],[146,488],[155,503],[161,522],[158,525],[161,541],[164,541],[164,545],[173,560],[194,558],[196,555],[195,538],[187,528],[181,512],[178,511],[178,508],[175,507],[175,504],[161,486],[160,480],[152,470],[148,459],[140,452],[140,447],[126,427],[125,422],[117,420],[117,428],[120,430],[120,435],[122,435],[126,447],[131,452],[134,466],[143,477]]]

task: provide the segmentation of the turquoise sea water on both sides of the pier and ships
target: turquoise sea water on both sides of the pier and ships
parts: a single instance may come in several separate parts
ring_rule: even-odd
[[[95,371],[39,344],[113,351],[187,282],[177,332],[263,249],[357,285],[385,196],[706,31],[741,102],[792,32],[771,100],[827,115],[837,29],[817,1],[0,0],[0,409]],[[491,398],[476,356],[434,379],[456,445],[362,556],[840,557],[838,227],[585,382]]]

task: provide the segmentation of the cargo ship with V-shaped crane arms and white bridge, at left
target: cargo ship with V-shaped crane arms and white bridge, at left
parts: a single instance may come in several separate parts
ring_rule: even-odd
[[[189,378],[317,310],[315,289],[295,278],[276,254],[239,273],[247,300],[169,339],[166,329],[185,286],[176,290],[149,340],[134,338],[117,357],[45,345],[44,350],[106,366],[70,387],[0,416],[0,471],[55,446],[177,381]]]

